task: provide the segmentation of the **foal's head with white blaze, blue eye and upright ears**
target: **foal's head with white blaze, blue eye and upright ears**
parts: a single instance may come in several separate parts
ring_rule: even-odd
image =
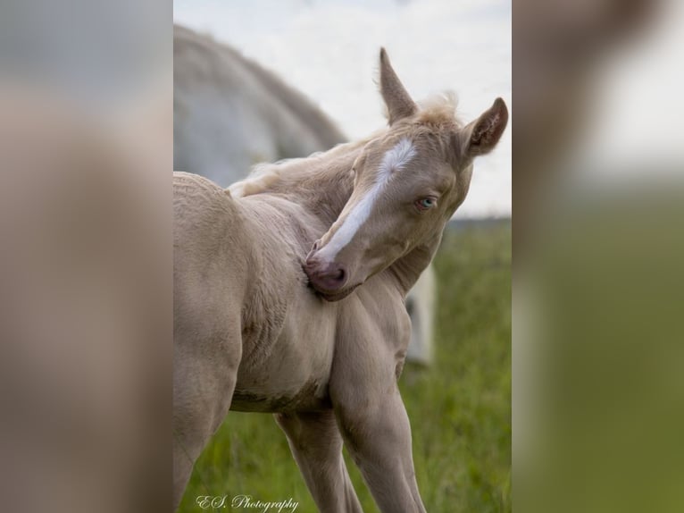
[[[420,109],[384,49],[380,92],[389,130],[356,158],[351,197],[306,257],[313,288],[328,300],[345,298],[416,248],[436,248],[468,191],[473,158],[495,147],[508,122],[501,98],[466,126],[456,121],[453,102]]]

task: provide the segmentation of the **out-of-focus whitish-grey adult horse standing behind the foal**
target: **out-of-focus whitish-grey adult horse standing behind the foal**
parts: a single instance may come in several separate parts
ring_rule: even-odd
[[[341,142],[335,124],[271,71],[210,36],[173,26],[173,169],[228,187],[254,164]],[[435,298],[430,266],[406,298],[409,361],[430,365]]]

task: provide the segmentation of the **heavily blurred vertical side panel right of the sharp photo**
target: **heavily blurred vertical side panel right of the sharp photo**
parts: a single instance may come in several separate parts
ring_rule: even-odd
[[[684,509],[683,8],[513,3],[521,511]]]

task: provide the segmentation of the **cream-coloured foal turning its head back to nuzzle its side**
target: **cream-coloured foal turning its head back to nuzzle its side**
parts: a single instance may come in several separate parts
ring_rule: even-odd
[[[424,511],[396,380],[406,292],[508,111],[463,125],[416,105],[380,52],[389,127],[273,164],[230,190],[174,176],[174,503],[229,409],[274,413],[321,511],[361,511],[342,458],[384,512]]]

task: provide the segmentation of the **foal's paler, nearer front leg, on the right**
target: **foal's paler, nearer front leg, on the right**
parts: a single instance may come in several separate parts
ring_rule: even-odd
[[[340,431],[381,511],[424,512],[395,355],[366,342],[334,367],[330,396]]]

